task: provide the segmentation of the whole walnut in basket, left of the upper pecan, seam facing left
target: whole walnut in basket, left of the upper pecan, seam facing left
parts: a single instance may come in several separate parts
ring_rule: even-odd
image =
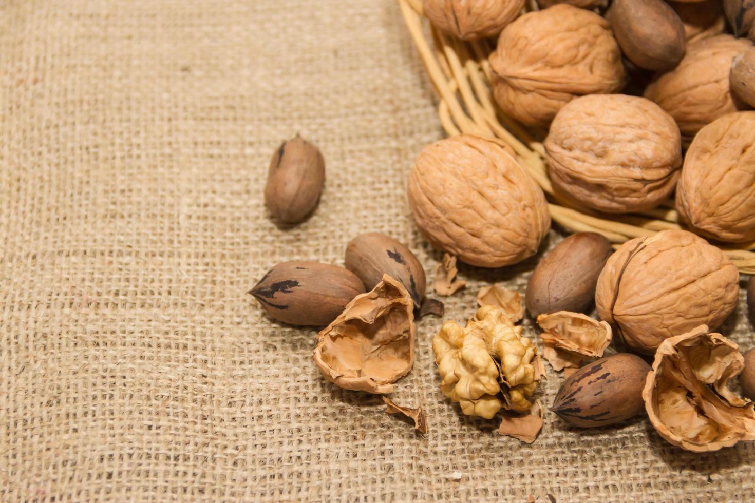
[[[495,100],[529,126],[547,126],[575,97],[615,93],[626,81],[608,21],[568,4],[529,12],[507,26],[490,65]]]

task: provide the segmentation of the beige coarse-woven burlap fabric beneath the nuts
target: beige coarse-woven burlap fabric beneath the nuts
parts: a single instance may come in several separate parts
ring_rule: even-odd
[[[439,391],[436,318],[394,394],[427,409],[415,434],[245,295],[276,262],[342,264],[360,232],[439,259],[405,179],[442,131],[391,0],[11,0],[0,23],[0,500],[755,498],[752,444],[695,455],[643,420],[549,414],[526,446],[467,419]],[[297,132],[327,186],[280,229],[262,187]],[[446,317],[489,281],[523,293],[533,264],[462,267]],[[753,345],[742,309],[724,330]]]

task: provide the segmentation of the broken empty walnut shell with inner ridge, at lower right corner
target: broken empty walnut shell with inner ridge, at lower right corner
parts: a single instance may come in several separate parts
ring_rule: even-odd
[[[655,431],[693,452],[755,440],[753,404],[727,388],[743,366],[738,346],[718,333],[708,333],[705,325],[666,339],[643,390]]]

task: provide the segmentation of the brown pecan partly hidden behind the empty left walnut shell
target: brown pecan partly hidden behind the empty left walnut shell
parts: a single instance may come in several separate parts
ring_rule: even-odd
[[[383,281],[383,275],[389,275],[408,290],[414,307],[420,307],[424,299],[427,281],[422,264],[411,250],[380,232],[367,232],[349,241],[344,265],[367,290]]]

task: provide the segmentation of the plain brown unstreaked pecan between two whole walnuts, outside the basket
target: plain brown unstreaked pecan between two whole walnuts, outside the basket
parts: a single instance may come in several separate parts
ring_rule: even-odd
[[[612,253],[611,242],[595,232],[578,232],[556,244],[527,282],[529,314],[587,311],[595,301],[600,271]]]

